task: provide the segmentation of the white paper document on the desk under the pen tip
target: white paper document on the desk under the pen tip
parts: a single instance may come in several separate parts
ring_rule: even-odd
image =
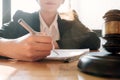
[[[87,52],[89,52],[89,49],[55,49],[46,59],[72,62],[78,60],[81,55]]]

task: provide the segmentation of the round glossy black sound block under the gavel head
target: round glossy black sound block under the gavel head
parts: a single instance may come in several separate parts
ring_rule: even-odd
[[[80,71],[104,77],[120,77],[120,54],[90,52],[79,58]]]

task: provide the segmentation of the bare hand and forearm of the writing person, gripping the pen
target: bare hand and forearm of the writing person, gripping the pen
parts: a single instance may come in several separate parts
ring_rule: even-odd
[[[45,35],[27,34],[23,37],[5,40],[0,39],[0,55],[23,61],[43,59],[52,50],[52,39]]]

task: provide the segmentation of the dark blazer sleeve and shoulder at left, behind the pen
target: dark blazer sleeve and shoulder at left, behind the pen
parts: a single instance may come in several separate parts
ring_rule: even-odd
[[[25,15],[26,14],[24,12],[17,11],[13,16],[13,20],[5,23],[0,29],[0,37],[14,39],[26,34],[27,31],[18,23],[18,19],[26,19]]]

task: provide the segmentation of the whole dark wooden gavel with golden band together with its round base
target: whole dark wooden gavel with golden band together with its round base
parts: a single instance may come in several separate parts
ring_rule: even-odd
[[[105,51],[83,55],[79,59],[78,68],[92,75],[120,78],[120,10],[109,10],[103,19]]]

